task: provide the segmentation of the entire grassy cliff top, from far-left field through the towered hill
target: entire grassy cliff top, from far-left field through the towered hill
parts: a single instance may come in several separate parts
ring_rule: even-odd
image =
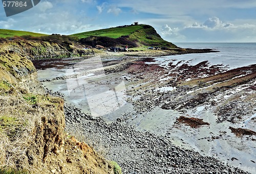
[[[176,45],[162,39],[157,31],[150,25],[125,25],[109,29],[82,32],[69,36],[51,36],[26,31],[0,29],[0,38],[8,38],[14,36],[22,36],[24,39],[36,39],[44,41],[55,40],[57,42],[64,41],[63,37],[72,37],[72,39],[68,38],[68,40],[79,40],[79,42],[83,45],[88,45],[92,47],[96,47],[97,45],[99,45],[105,48],[126,46],[128,46],[129,48],[177,48]]]

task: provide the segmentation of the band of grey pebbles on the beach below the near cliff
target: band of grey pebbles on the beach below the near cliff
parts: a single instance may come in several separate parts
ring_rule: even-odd
[[[116,161],[123,173],[248,173],[175,146],[166,137],[139,132],[121,119],[107,124],[102,118],[87,116],[68,104],[65,116],[68,132],[82,133],[104,144],[109,149],[105,157]]]

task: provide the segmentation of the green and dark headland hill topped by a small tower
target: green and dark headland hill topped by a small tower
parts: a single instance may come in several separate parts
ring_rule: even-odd
[[[120,26],[110,29],[95,30],[73,34],[80,38],[82,44],[95,47],[167,47],[177,48],[171,42],[165,41],[150,25]]]

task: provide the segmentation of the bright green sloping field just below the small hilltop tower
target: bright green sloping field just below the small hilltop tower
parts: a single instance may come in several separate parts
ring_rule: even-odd
[[[128,26],[128,27],[122,27],[122,28],[109,28],[109,29],[101,29],[101,30],[77,33],[77,34],[73,34],[72,36],[77,36],[79,38],[86,38],[90,36],[106,36],[111,38],[118,38],[121,36],[130,35],[133,32],[142,28],[143,28],[143,25]]]

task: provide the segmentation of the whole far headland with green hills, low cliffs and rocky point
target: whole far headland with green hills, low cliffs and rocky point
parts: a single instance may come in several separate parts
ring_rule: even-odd
[[[20,54],[29,59],[84,57],[96,54],[110,55],[106,49],[111,47],[132,48],[128,52],[119,52],[126,56],[166,56],[215,52],[211,49],[181,49],[171,42],[163,40],[156,30],[149,25],[119,26],[73,35],[44,35],[0,29],[0,41],[9,41],[9,45],[13,46],[11,51],[16,52],[18,50]],[[151,47],[152,50],[147,49],[148,47]],[[153,50],[155,49],[153,47],[158,47],[160,50]],[[120,49],[120,51],[125,50]]]

